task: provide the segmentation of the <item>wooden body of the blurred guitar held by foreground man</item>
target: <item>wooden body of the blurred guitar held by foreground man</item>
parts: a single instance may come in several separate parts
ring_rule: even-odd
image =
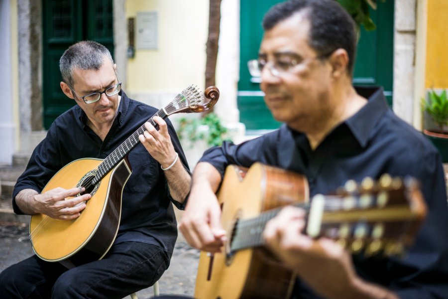
[[[218,199],[223,206],[221,223],[231,242],[233,224],[261,212],[309,198],[305,177],[260,163],[246,169],[227,167]],[[259,248],[215,254],[201,252],[195,298],[288,298],[295,275]]]

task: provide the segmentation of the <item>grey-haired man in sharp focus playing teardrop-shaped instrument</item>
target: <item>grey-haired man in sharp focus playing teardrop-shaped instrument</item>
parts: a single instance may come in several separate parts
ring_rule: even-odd
[[[191,174],[170,121],[153,117],[158,131],[145,123],[158,109],[126,96],[105,46],[93,41],[70,46],[60,70],[61,89],[77,105],[53,122],[34,149],[13,191],[16,213],[77,219],[91,195],[73,197],[79,188],[41,193],[47,182],[74,160],[106,158],[142,124],[147,131],[127,155],[132,174],[108,253],[70,270],[34,255],[0,274],[0,298],[123,298],[153,285],[168,268],[177,237],[171,203],[183,208]]]

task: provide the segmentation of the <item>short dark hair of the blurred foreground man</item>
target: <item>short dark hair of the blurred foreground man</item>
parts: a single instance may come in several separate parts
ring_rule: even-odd
[[[276,4],[264,15],[263,29],[270,30],[298,12],[304,12],[310,21],[308,44],[318,55],[345,49],[347,70],[351,75],[356,52],[356,27],[352,17],[336,0],[289,0]]]

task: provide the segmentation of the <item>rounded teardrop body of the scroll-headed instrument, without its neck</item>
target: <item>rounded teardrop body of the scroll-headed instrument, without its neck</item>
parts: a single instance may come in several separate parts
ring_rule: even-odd
[[[79,159],[59,170],[42,193],[57,188],[79,186],[103,160]],[[110,249],[118,231],[121,194],[131,174],[127,158],[121,160],[96,185],[86,208],[75,220],[57,220],[46,215],[31,217],[30,236],[33,250],[48,262],[61,262],[73,268],[101,259]],[[94,191],[94,192],[93,192]]]

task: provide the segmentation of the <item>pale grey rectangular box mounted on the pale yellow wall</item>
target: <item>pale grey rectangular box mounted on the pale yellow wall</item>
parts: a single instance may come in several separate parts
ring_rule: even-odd
[[[137,49],[157,49],[157,11],[137,12]]]

